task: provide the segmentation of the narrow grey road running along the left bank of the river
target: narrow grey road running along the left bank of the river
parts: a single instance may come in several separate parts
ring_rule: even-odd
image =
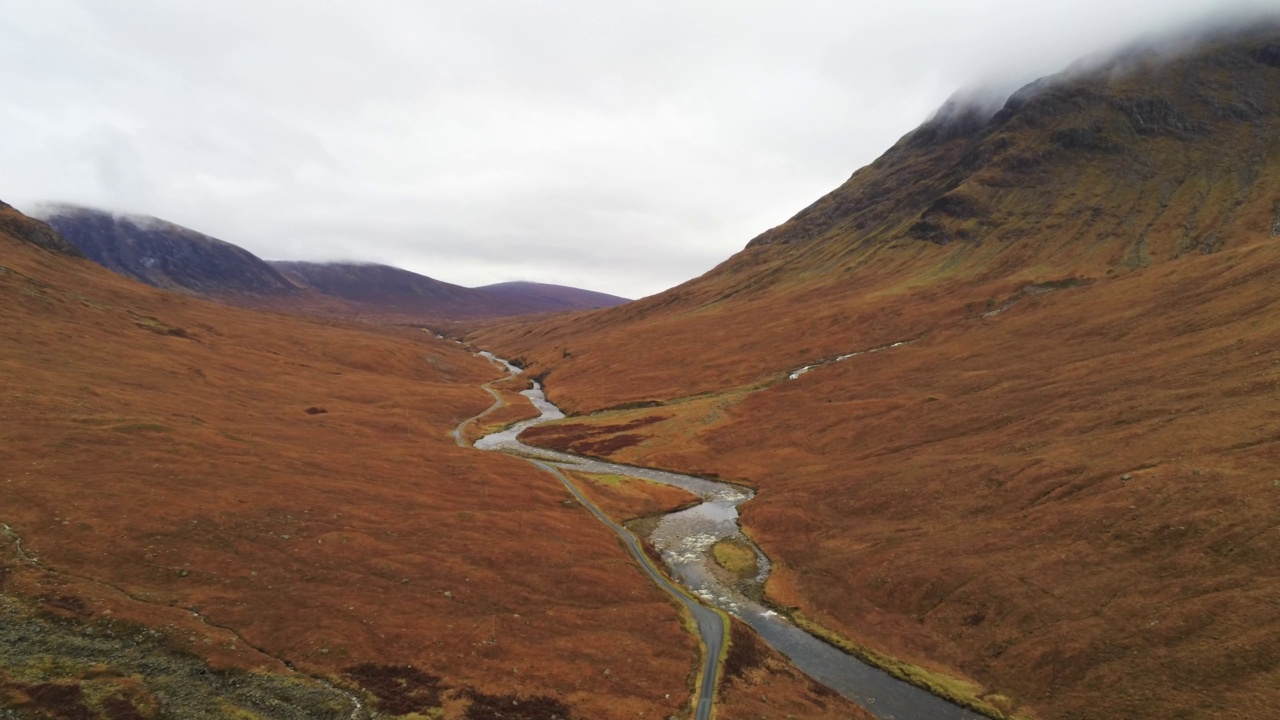
[[[494,364],[499,364],[498,360],[492,356],[488,359]],[[500,378],[498,380],[488,382],[481,386],[489,395],[493,396],[494,400],[493,405],[490,405],[484,413],[480,413],[474,418],[467,418],[466,420],[458,423],[458,427],[453,428],[453,432],[451,434],[453,436],[453,441],[457,442],[458,446],[470,447],[470,445],[462,437],[462,432],[466,429],[467,425],[503,406],[502,395],[498,391],[495,391],[492,386],[495,382],[508,379],[518,373],[518,369],[513,369],[511,365],[506,365],[503,369],[511,373],[509,375],[507,375],[507,378]],[[520,456],[513,455],[513,457],[520,457]],[[521,457],[521,459],[530,462],[539,470],[554,475],[561,483],[563,483],[564,487],[568,488],[568,492],[572,493],[573,497],[582,505],[582,507],[586,507],[591,512],[591,515],[595,515],[596,520],[604,523],[607,528],[609,528],[611,530],[613,530],[616,536],[618,536],[618,538],[622,541],[623,547],[626,547],[627,552],[631,553],[631,557],[634,557],[636,562],[640,564],[640,569],[644,570],[644,574],[648,575],[649,579],[654,582],[654,584],[657,584],[659,588],[662,588],[673,598],[676,598],[676,602],[682,605],[689,611],[690,616],[692,616],[694,623],[698,626],[698,635],[703,644],[703,669],[699,678],[698,697],[694,698],[695,702],[694,720],[710,720],[712,708],[716,702],[716,687],[719,684],[721,656],[724,653],[724,647],[726,643],[728,642],[728,616],[724,615],[722,611],[716,610],[714,607],[708,607],[707,605],[703,605],[692,596],[690,596],[687,592],[685,592],[684,588],[671,582],[667,578],[667,575],[657,565],[654,565],[653,559],[650,559],[649,555],[645,553],[644,547],[640,544],[640,539],[636,538],[634,534],[631,534],[631,530],[614,523],[608,515],[604,514],[603,510],[600,510],[599,507],[595,506],[594,502],[588,500],[586,496],[582,495],[582,492],[577,488],[577,486],[573,484],[573,480],[570,480],[568,477],[564,475],[564,473],[561,471],[559,468],[552,465],[550,462],[534,460],[531,457]]]

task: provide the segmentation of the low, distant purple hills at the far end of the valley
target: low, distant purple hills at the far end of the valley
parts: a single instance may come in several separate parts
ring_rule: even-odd
[[[502,283],[462,287],[399,268],[357,263],[273,261],[300,287],[390,313],[433,316],[498,316],[611,307],[623,297],[556,284]]]

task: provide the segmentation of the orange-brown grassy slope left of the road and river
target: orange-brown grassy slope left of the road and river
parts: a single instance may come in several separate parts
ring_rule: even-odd
[[[439,689],[416,710],[447,717],[686,712],[698,646],[675,605],[554,478],[449,437],[490,404],[489,363],[161,292],[8,233],[0,265],[6,602],[86,633],[141,624],[215,667],[357,688],[361,666],[412,665]],[[110,674],[73,660],[0,667],[0,705]],[[138,693],[129,712],[155,716]]]

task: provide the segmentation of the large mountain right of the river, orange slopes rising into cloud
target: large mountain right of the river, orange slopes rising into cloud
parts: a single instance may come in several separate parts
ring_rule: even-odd
[[[700,278],[486,327],[527,438],[754,487],[774,606],[1009,717],[1280,703],[1280,22],[956,97]]]

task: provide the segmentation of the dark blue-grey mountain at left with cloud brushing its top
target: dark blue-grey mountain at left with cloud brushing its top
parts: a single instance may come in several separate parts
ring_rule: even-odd
[[[204,296],[297,292],[252,252],[157,218],[74,205],[37,214],[95,263],[155,287]]]

